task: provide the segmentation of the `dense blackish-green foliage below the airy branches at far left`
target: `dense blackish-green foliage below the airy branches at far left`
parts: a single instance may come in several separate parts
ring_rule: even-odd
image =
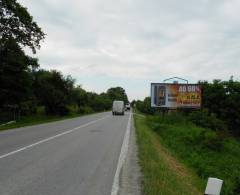
[[[2,42],[0,40],[0,44]],[[20,105],[32,94],[31,71],[38,67],[36,58],[24,54],[14,39],[8,39],[0,47],[0,107]]]

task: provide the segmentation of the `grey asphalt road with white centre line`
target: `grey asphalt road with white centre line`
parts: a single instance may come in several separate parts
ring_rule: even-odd
[[[0,194],[109,195],[129,113],[0,132]]]

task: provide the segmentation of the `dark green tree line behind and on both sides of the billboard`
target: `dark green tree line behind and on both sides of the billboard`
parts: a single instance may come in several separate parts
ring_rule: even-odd
[[[225,131],[240,136],[240,82],[231,77],[228,81],[199,81],[202,87],[200,110],[179,110],[199,126]],[[136,108],[146,114],[156,114],[159,109],[151,108],[151,99],[135,102]]]

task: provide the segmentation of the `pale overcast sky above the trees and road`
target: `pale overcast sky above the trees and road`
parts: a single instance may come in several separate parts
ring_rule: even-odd
[[[240,79],[239,0],[19,0],[46,33],[41,68],[97,93],[150,83]]]

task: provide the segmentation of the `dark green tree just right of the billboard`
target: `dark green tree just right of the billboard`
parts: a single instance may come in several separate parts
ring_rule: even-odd
[[[240,82],[214,80],[213,83],[200,82],[203,89],[203,105],[209,114],[215,114],[224,121],[229,130],[240,135]]]

